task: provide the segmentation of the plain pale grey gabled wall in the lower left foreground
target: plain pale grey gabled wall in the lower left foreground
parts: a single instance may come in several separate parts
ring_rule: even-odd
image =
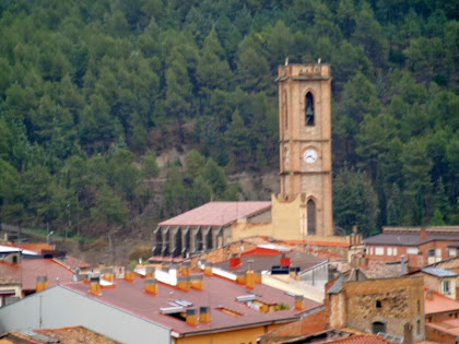
[[[169,329],[64,286],[50,287],[0,309],[0,333],[76,325],[127,344],[172,343]]]

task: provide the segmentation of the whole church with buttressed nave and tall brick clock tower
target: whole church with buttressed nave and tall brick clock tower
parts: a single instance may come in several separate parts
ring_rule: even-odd
[[[255,236],[307,246],[356,244],[356,237],[333,236],[330,66],[286,63],[275,81],[280,194],[271,202],[210,202],[164,221],[154,232],[154,256],[186,258]]]

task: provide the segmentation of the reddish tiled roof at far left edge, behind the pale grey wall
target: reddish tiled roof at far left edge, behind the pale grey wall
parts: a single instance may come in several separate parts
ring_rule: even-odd
[[[23,259],[17,264],[0,261],[0,284],[21,284],[23,290],[35,290],[38,276],[48,277],[48,286],[68,283],[73,272],[54,259]]]

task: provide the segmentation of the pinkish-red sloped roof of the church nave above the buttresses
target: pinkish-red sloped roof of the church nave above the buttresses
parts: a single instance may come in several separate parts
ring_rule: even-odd
[[[271,202],[209,202],[160,226],[226,226],[238,218],[257,215],[271,207]]]

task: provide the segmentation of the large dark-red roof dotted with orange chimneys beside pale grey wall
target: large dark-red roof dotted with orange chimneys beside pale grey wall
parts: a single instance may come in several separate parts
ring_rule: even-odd
[[[304,309],[299,311],[294,307],[295,298],[282,290],[262,284],[257,284],[254,290],[248,290],[244,285],[217,276],[203,276],[203,290],[190,289],[189,292],[184,292],[174,286],[158,283],[158,294],[156,296],[144,292],[144,280],[142,278],[137,278],[134,282],[116,280],[115,284],[115,288],[103,288],[99,296],[91,294],[89,285],[84,283],[69,283],[62,285],[62,287],[117,307],[145,320],[160,323],[180,334],[227,331],[228,328],[248,328],[274,322],[294,321],[298,319],[301,312],[321,306],[321,304],[305,299]],[[257,300],[266,304],[283,303],[289,305],[290,309],[262,313],[236,300],[237,296],[248,295],[249,293],[255,293]],[[191,308],[197,309],[209,306],[211,322],[209,324],[199,323],[199,325],[192,327],[175,317],[161,313],[160,308],[174,306],[172,304],[173,299],[190,301],[192,303]],[[231,316],[219,310],[219,308],[229,309],[242,316]]]

